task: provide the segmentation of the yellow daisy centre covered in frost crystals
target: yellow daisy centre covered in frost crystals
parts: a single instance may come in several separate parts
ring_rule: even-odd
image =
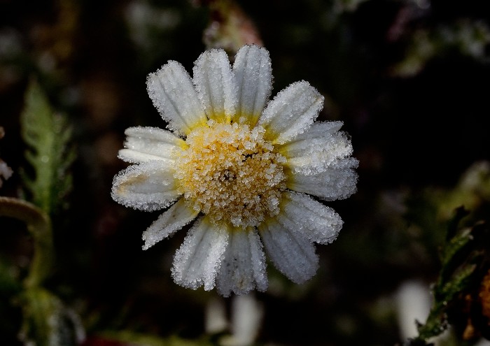
[[[264,134],[260,126],[213,120],[191,131],[175,173],[188,206],[212,222],[244,228],[277,215],[286,189],[286,159]]]

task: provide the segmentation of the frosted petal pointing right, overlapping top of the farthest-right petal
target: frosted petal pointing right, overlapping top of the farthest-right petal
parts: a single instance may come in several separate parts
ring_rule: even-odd
[[[280,145],[277,150],[288,161],[293,172],[321,173],[339,159],[351,156],[349,137],[337,132],[342,122],[319,122],[298,135],[292,142]]]

